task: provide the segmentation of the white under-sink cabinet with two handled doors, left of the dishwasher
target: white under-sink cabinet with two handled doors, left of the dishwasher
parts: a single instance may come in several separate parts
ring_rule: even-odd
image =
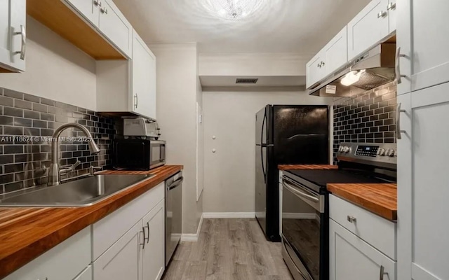
[[[162,182],[92,225],[94,280],[161,279],[165,269],[164,194]]]

